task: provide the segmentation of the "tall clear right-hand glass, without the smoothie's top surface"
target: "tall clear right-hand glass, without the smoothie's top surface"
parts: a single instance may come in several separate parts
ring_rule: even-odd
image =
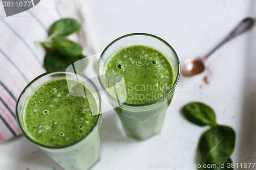
[[[133,45],[149,46],[160,51],[167,58],[174,70],[175,81],[172,88],[162,98],[151,103],[129,104],[119,101],[116,96],[120,96],[120,94],[124,96],[124,93],[126,93],[125,87],[123,87],[125,84],[121,83],[125,82],[125,80],[123,78],[121,78],[122,80],[118,80],[120,79],[118,78],[120,77],[120,73],[116,74],[118,76],[116,79],[119,82],[111,83],[114,89],[111,89],[113,87],[109,87],[108,83],[106,83],[109,81],[109,75],[105,75],[105,68],[111,57],[122,48]],[[160,132],[166,109],[172,101],[175,86],[180,76],[179,58],[172,46],[163,39],[151,34],[134,33],[124,35],[111,42],[102,52],[98,62],[97,74],[101,88],[121,119],[127,136],[144,140]],[[119,94],[116,95],[115,93]]]

